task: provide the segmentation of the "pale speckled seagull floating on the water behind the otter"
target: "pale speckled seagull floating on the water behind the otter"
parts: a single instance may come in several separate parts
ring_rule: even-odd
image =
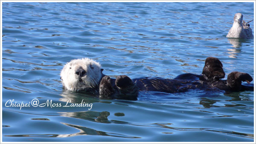
[[[243,14],[236,13],[234,16],[234,23],[232,28],[227,34],[227,37],[241,38],[241,39],[253,39],[253,32],[250,28],[250,23],[243,20]]]

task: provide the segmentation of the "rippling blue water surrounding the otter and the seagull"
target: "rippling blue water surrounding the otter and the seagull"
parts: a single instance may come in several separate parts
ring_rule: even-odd
[[[223,63],[224,79],[233,71],[254,78],[254,40],[226,38],[235,13],[249,21],[254,11],[253,3],[3,3],[2,140],[253,141],[254,92],[107,100],[64,91],[59,74],[87,57],[112,78],[175,78],[201,74],[212,56]],[[11,100],[30,107],[8,107]]]

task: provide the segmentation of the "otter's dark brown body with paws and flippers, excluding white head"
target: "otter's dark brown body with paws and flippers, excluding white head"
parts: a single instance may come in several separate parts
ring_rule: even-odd
[[[253,91],[253,86],[241,85],[241,81],[248,83],[253,78],[243,72],[231,72],[227,80],[222,63],[218,58],[208,57],[205,60],[202,75],[182,74],[174,79],[136,78],[131,80],[127,75],[120,75],[111,79],[107,75],[102,78],[99,94],[102,97],[119,99],[137,99],[138,91],[157,91],[166,93],[186,92],[189,89],[221,89],[228,92],[244,90]]]

